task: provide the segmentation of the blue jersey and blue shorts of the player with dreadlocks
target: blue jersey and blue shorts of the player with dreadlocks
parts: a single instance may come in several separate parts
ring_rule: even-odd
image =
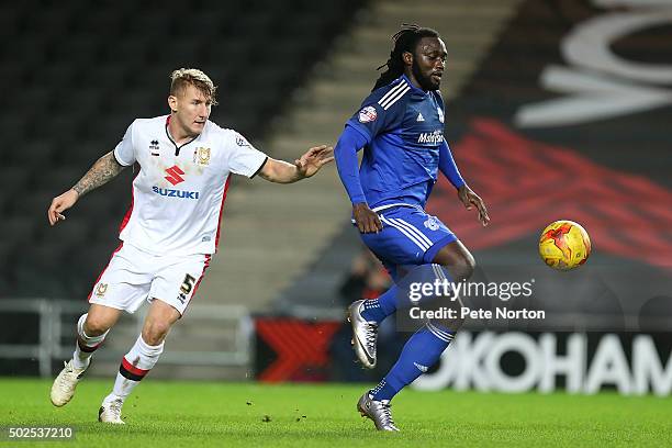
[[[401,76],[374,90],[347,122],[336,163],[354,204],[368,203],[383,231],[361,234],[363,243],[396,280],[397,267],[429,264],[455,234],[425,204],[440,170],[464,184],[444,139],[444,101],[438,91]],[[357,169],[356,152],[363,148]]]

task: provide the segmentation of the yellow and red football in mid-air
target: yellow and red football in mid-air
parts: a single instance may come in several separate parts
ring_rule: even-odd
[[[591,255],[587,232],[573,221],[549,224],[539,238],[539,255],[547,266],[558,270],[574,269]]]

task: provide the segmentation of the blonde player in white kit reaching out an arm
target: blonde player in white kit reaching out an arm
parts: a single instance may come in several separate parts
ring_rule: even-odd
[[[231,173],[290,183],[309,178],[333,160],[317,146],[294,164],[255,149],[240,134],[209,121],[216,87],[201,70],[171,75],[170,114],[135,120],[116,147],[102,156],[75,187],[54,198],[51,225],[83,194],[109,182],[125,167],[139,165],[133,202],[121,224],[121,245],[89,294],[89,312],[77,323],[77,345],[51,399],[67,404],[89,367],[91,355],[123,311],[150,303],[143,329],[122,358],[99,421],[123,424],[124,400],[156,365],[172,324],[182,316],[215,251]]]

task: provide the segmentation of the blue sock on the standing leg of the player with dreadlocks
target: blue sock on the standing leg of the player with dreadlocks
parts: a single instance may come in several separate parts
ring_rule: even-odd
[[[453,332],[432,323],[418,329],[408,338],[390,372],[369,394],[376,401],[392,400],[439,360],[453,336]]]

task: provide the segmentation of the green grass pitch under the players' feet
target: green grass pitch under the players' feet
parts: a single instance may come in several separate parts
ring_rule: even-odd
[[[366,385],[170,382],[141,384],[123,427],[98,423],[112,380],[85,380],[65,407],[51,381],[0,379],[0,426],[74,426],[75,441],[21,446],[122,447],[597,447],[671,446],[672,401],[557,394],[403,391],[399,434],[355,411]],[[3,428],[4,435],[7,428]],[[7,440],[7,438],[5,438]],[[1,446],[12,443],[0,441]],[[15,444],[13,444],[15,445]]]

